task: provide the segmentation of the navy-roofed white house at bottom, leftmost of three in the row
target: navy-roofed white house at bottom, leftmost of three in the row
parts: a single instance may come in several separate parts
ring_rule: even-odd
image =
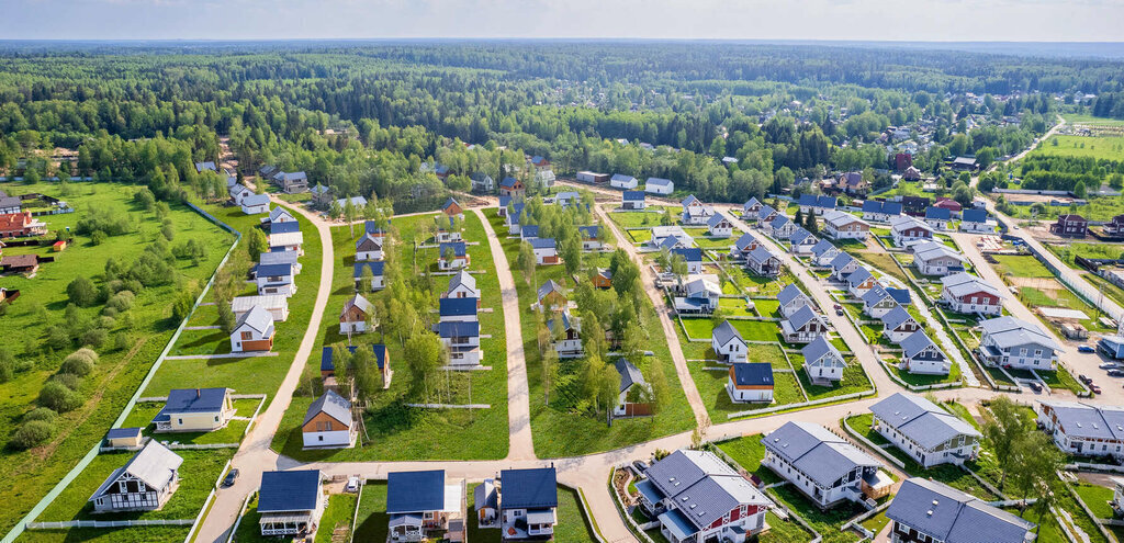
[[[320,470],[263,471],[257,489],[262,535],[305,539],[316,532],[328,501],[321,480]]]

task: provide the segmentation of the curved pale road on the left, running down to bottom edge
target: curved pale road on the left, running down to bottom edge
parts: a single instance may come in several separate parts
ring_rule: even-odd
[[[280,205],[283,202],[274,200],[274,203]],[[288,205],[287,207],[311,219],[310,214],[305,209]],[[238,512],[242,509],[242,503],[246,499],[246,496],[257,490],[257,485],[262,479],[262,471],[291,468],[294,463],[291,460],[279,458],[275,452],[270,450],[270,443],[272,443],[273,435],[277,434],[278,427],[281,425],[281,417],[284,416],[285,409],[289,408],[289,404],[292,401],[292,393],[300,382],[300,374],[303,372],[308,356],[316,344],[316,336],[320,331],[320,320],[324,317],[324,307],[327,305],[328,296],[332,293],[332,275],[336,261],[332,246],[332,230],[321,221],[314,220],[312,224],[320,235],[320,245],[323,246],[320,287],[316,292],[316,305],[312,306],[312,317],[308,323],[308,328],[305,331],[305,337],[301,338],[300,346],[297,349],[297,355],[293,356],[292,364],[289,365],[289,372],[285,374],[284,381],[281,382],[281,387],[273,397],[273,401],[264,413],[259,415],[257,423],[251,429],[250,435],[242,442],[238,452],[234,455],[234,461],[230,465],[242,472],[238,481],[233,487],[220,489],[216,494],[215,505],[199,527],[199,535],[196,537],[197,541],[226,541],[229,530],[234,526],[238,517]],[[281,465],[282,463],[284,465]]]

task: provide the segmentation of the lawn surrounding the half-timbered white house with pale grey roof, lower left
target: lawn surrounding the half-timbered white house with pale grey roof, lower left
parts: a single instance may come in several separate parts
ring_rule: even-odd
[[[129,452],[106,453],[99,454],[82,470],[82,473],[44,509],[36,521],[194,518],[202,509],[207,495],[223,473],[223,467],[233,455],[233,451],[219,449],[173,452],[183,459],[183,464],[180,465],[180,488],[161,510],[93,514],[93,504],[88,501],[90,496],[115,469],[124,465],[133,456]]]

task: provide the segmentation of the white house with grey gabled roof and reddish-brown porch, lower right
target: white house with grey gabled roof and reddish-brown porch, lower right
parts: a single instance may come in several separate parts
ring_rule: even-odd
[[[761,438],[761,465],[773,470],[822,509],[888,494],[882,464],[818,424],[788,422]]]

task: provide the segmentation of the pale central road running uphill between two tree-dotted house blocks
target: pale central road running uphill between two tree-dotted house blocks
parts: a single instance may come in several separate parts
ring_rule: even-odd
[[[499,237],[480,209],[473,209],[491,246],[496,277],[504,300],[504,328],[507,337],[507,425],[509,443],[507,460],[534,460],[535,443],[531,434],[531,391],[527,388],[527,361],[523,352],[523,328],[519,326],[519,297],[515,279]]]

